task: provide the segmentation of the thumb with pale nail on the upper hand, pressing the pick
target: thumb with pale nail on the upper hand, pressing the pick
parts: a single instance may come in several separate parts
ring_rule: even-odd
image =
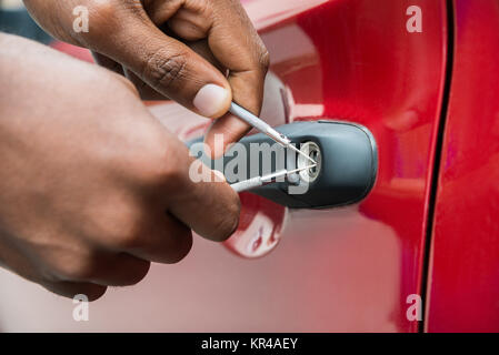
[[[229,110],[232,91],[223,74],[150,21],[132,19],[100,47],[99,52],[198,114],[217,119]]]

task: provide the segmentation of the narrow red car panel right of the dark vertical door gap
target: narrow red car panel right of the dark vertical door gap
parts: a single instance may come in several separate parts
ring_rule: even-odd
[[[436,193],[426,329],[498,332],[499,3],[453,4],[452,81]]]

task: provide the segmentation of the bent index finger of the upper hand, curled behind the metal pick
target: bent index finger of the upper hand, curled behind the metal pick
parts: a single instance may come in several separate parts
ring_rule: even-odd
[[[233,101],[258,115],[263,100],[269,55],[240,2],[176,1],[182,2],[182,6],[176,9],[174,16],[171,14],[171,3],[150,2],[147,10],[154,23],[160,24],[168,19],[170,29],[182,39],[208,39],[213,59],[219,67],[229,70]],[[206,143],[213,152],[216,134],[224,134],[226,144],[230,144],[249,130],[248,124],[226,115],[210,128]]]

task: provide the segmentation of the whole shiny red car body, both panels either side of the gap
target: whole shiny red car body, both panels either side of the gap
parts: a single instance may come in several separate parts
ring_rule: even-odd
[[[0,328],[498,332],[499,2],[243,2],[272,60],[262,118],[367,128],[370,193],[321,210],[243,193],[227,247],[197,239],[89,322],[0,272]],[[177,104],[151,110],[186,141],[206,129]]]

